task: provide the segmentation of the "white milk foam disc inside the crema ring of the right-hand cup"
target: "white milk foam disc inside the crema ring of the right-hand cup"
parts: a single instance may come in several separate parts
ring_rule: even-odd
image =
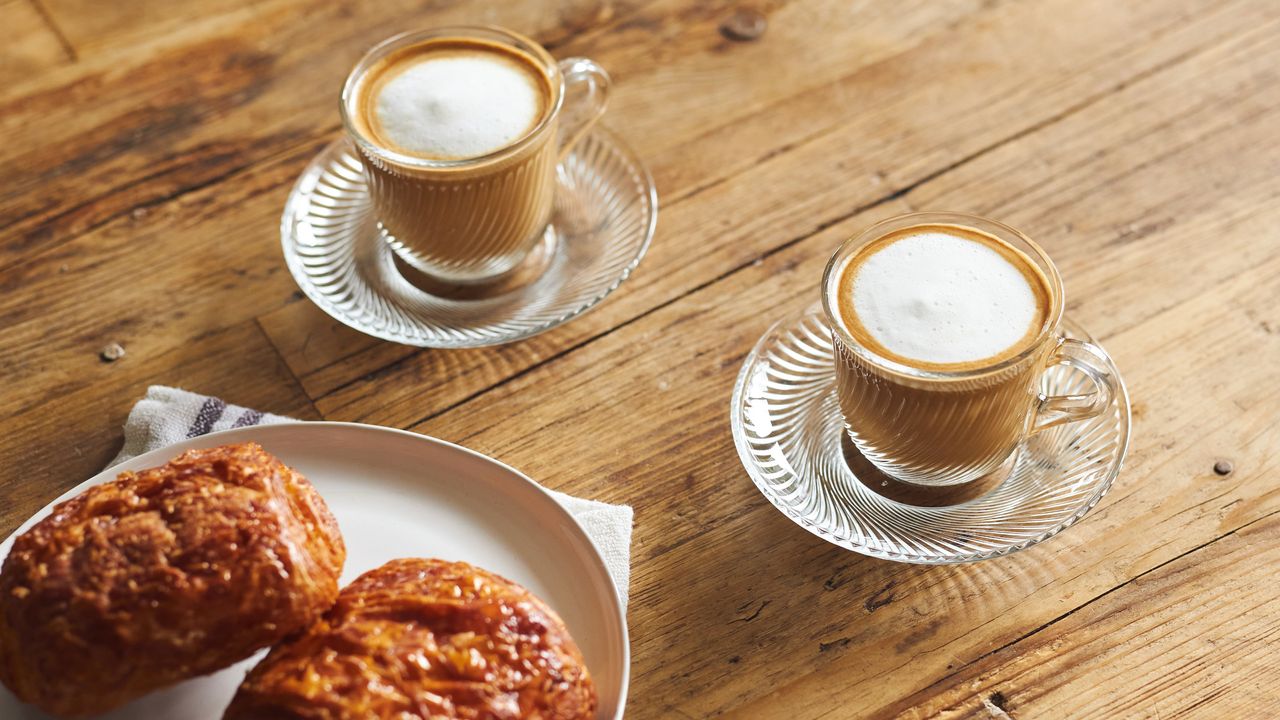
[[[911,360],[995,357],[1043,322],[1023,270],[975,240],[922,231],[891,241],[854,272],[859,322],[884,348]]]

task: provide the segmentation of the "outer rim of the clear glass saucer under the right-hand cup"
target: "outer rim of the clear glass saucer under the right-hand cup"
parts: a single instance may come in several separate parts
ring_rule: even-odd
[[[915,555],[908,556],[902,553],[882,552],[874,548],[872,544],[859,541],[859,538],[846,538],[844,536],[836,536],[829,530],[827,530],[826,528],[817,525],[805,518],[796,516],[795,514],[791,512],[788,507],[782,505],[777,497],[774,497],[773,492],[771,492],[765,487],[764,479],[759,475],[759,469],[755,468],[754,464],[750,461],[751,451],[750,447],[748,447],[746,428],[742,424],[740,409],[745,404],[745,393],[748,384],[750,383],[754,368],[759,364],[760,351],[763,350],[765,343],[777,337],[777,334],[783,327],[803,323],[805,319],[810,316],[818,318],[823,325],[827,325],[827,319],[822,313],[820,307],[813,304],[805,306],[801,310],[786,313],[782,315],[782,318],[769,324],[769,327],[760,334],[760,337],[751,346],[750,352],[748,352],[746,357],[742,360],[742,365],[739,369],[737,378],[733,382],[733,393],[731,396],[728,407],[730,427],[733,434],[733,448],[737,451],[739,462],[741,462],[742,469],[746,471],[748,477],[751,478],[751,483],[755,486],[755,489],[759,491],[760,495],[763,495],[764,498],[769,501],[769,505],[772,505],[778,512],[781,512],[785,518],[787,518],[800,528],[808,530],[810,534],[814,534],[837,547],[858,552],[860,555],[865,555],[869,557],[876,557],[878,560],[908,562],[913,565],[959,565],[966,562],[979,562],[983,560],[1004,557],[1006,555],[1027,550],[1032,546],[1036,546],[1041,542],[1052,538],[1053,536],[1079,523],[1085,515],[1089,514],[1089,511],[1097,507],[1097,505],[1102,501],[1102,498],[1107,495],[1107,492],[1111,491],[1111,486],[1115,484],[1115,479],[1120,477],[1120,471],[1124,469],[1124,462],[1129,456],[1129,445],[1133,438],[1132,433],[1133,410],[1129,398],[1129,388],[1125,384],[1124,377],[1120,374],[1120,369],[1115,365],[1115,361],[1112,361],[1111,366],[1117,386],[1117,392],[1115,395],[1114,402],[1119,405],[1120,410],[1119,419],[1121,421],[1121,434],[1123,434],[1120,447],[1116,450],[1115,468],[1107,474],[1106,479],[1098,484],[1093,495],[1089,496],[1088,501],[1083,503],[1075,512],[1073,512],[1070,518],[1065,519],[1057,527],[1051,528],[1029,541],[1020,541],[1018,543],[1009,544],[1000,550],[966,555],[963,557],[915,556]],[[1066,329],[1069,332],[1076,331],[1082,333],[1085,338],[1092,341],[1093,336],[1073,318],[1064,315],[1060,328]]]

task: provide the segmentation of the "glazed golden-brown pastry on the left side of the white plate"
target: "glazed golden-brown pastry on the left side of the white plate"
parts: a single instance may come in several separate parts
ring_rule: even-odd
[[[314,623],[347,551],[256,443],[192,450],[54,507],[0,570],[0,680],[63,716],[212,673]]]

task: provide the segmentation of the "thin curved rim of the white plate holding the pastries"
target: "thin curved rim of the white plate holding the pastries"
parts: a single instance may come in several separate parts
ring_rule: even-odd
[[[76,484],[74,487],[67,489],[67,492],[64,492],[64,493],[59,495],[58,497],[55,497],[54,500],[50,500],[49,502],[46,502],[44,506],[41,506],[38,510],[36,510],[33,514],[31,514],[26,520],[23,520],[3,541],[0,541],[0,564],[3,564],[5,559],[8,559],[9,551],[13,547],[13,541],[18,536],[20,536],[22,533],[27,532],[32,525],[35,525],[36,523],[38,523],[44,518],[49,516],[50,511],[56,505],[59,505],[60,502],[65,502],[67,500],[69,500],[69,498],[72,498],[72,497],[74,497],[74,496],[77,496],[77,495],[79,495],[82,492],[84,492],[90,487],[99,486],[99,484],[102,484],[102,483],[105,483],[105,482],[108,482],[110,479],[114,479],[120,471],[131,470],[131,469],[137,469],[137,468],[151,466],[155,462],[155,457],[157,457],[157,456],[172,455],[175,450],[177,451],[187,450],[188,446],[189,447],[200,447],[200,446],[202,446],[202,443],[205,443],[207,441],[216,441],[216,439],[219,439],[221,437],[227,437],[227,436],[241,436],[241,434],[250,434],[251,436],[251,434],[255,434],[255,433],[273,433],[273,432],[283,432],[283,430],[287,430],[287,429],[288,430],[298,430],[300,428],[305,428],[303,432],[308,432],[311,429],[338,429],[338,430],[370,432],[370,433],[375,433],[375,434],[390,434],[390,436],[396,436],[396,437],[399,437],[402,439],[411,441],[411,442],[415,442],[415,443],[424,443],[425,442],[426,445],[433,445],[433,446],[435,446],[438,448],[443,448],[444,451],[448,451],[448,452],[457,452],[457,454],[467,457],[470,461],[479,462],[479,464],[486,464],[486,465],[490,465],[490,466],[497,466],[497,469],[506,471],[506,474],[508,477],[512,477],[513,479],[518,479],[525,487],[535,491],[536,495],[539,495],[540,497],[543,497],[547,501],[547,505],[549,507],[554,507],[554,510],[552,510],[552,512],[558,514],[562,520],[567,520],[568,521],[568,527],[573,528],[573,530],[576,533],[576,539],[580,541],[580,542],[584,542],[585,546],[591,550],[591,557],[593,557],[594,564],[595,564],[595,570],[599,571],[599,574],[604,579],[607,587],[612,591],[612,593],[609,594],[609,603],[608,603],[608,609],[607,610],[608,610],[608,615],[611,615],[612,619],[617,623],[617,626],[621,630],[621,635],[622,635],[621,637],[621,641],[622,641],[622,657],[621,657],[621,660],[622,660],[622,665],[621,665],[622,675],[621,675],[621,682],[618,684],[618,698],[617,698],[618,707],[617,707],[617,711],[613,715],[613,720],[622,720],[623,714],[626,711],[627,697],[630,694],[630,685],[631,685],[631,632],[630,632],[630,628],[627,626],[627,614],[626,614],[626,610],[623,610],[623,607],[622,607],[622,596],[618,592],[617,583],[613,582],[613,575],[609,573],[608,565],[604,562],[604,556],[600,552],[600,547],[595,543],[595,541],[591,539],[591,536],[588,534],[588,532],[582,528],[582,524],[577,521],[577,518],[575,518],[572,512],[570,512],[567,509],[564,509],[564,506],[561,505],[554,498],[554,496],[552,496],[550,491],[548,488],[543,487],[541,483],[539,483],[538,480],[534,480],[532,478],[530,478],[525,473],[517,470],[516,468],[512,468],[511,465],[503,462],[502,460],[498,460],[495,457],[490,457],[490,456],[488,456],[488,455],[485,455],[483,452],[471,450],[470,447],[463,447],[463,446],[457,445],[454,442],[449,442],[447,439],[440,439],[438,437],[433,437],[433,436],[428,436],[428,434],[422,434],[422,433],[415,433],[412,430],[404,430],[404,429],[399,429],[399,428],[389,428],[389,427],[385,427],[385,425],[372,425],[372,424],[367,424],[367,423],[347,423],[347,421],[340,421],[340,420],[288,420],[288,421],[283,421],[283,423],[270,423],[270,424],[251,425],[251,427],[243,427],[243,428],[227,428],[227,429],[223,429],[223,430],[216,430],[216,432],[206,433],[206,434],[202,434],[202,436],[184,438],[182,441],[178,441],[178,442],[174,442],[174,443],[169,443],[166,446],[157,447],[155,450],[150,450],[150,451],[143,452],[141,455],[136,455],[136,456],[131,457],[129,460],[125,460],[124,462],[119,462],[116,465],[111,465],[109,468],[104,468],[97,474],[95,474],[95,475],[90,477],[88,479],[86,479],[86,480]],[[180,448],[180,450],[178,450],[178,448]]]

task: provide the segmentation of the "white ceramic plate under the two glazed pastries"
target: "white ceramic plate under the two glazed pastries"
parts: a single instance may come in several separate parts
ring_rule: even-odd
[[[18,533],[90,486],[122,470],[163,465],[192,447],[246,441],[261,443],[301,470],[324,496],[347,543],[343,583],[394,557],[463,560],[511,578],[564,619],[595,678],[598,717],[622,717],[630,671],[626,615],[599,551],[577,521],[527,477],[425,436],[351,423],[296,423],[224,430],[172,445],[100,473],[55,500],[0,544],[0,560]],[[259,657],[152,693],[104,717],[220,719]],[[49,716],[0,687],[0,717]]]

